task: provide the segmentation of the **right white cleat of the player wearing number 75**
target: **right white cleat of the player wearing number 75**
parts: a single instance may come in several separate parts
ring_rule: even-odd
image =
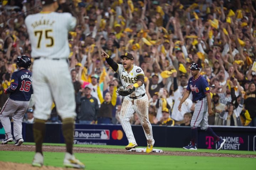
[[[85,165],[81,163],[78,159],[75,158],[74,155],[66,152],[63,165],[66,168],[78,168],[78,169],[85,169]]]

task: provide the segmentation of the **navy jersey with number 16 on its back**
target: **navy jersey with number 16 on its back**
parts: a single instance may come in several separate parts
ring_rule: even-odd
[[[29,101],[33,93],[32,73],[27,69],[12,73],[8,92],[10,92],[10,99],[12,100]]]

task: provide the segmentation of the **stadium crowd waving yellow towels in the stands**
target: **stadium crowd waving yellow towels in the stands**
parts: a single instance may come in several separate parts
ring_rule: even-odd
[[[100,56],[105,51],[117,63],[119,56],[132,53],[143,69],[151,124],[190,125],[192,98],[181,112],[177,108],[191,77],[189,67],[197,63],[211,87],[214,116],[208,118],[209,125],[256,126],[255,0],[67,2],[78,21],[69,32],[77,123],[119,123],[122,96],[115,91],[120,77]],[[30,56],[24,19],[40,12],[40,5],[40,0],[2,1],[0,107],[8,98],[3,89],[17,69],[17,56]],[[54,107],[49,121],[58,122]],[[136,113],[131,121],[140,124]]]

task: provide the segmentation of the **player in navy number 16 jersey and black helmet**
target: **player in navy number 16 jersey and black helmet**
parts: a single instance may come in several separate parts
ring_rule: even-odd
[[[22,119],[27,111],[28,103],[33,93],[31,85],[32,73],[28,70],[31,66],[30,58],[25,55],[18,56],[17,66],[20,69],[12,73],[10,87],[4,90],[4,93],[10,94],[10,97],[2,107],[0,120],[5,130],[5,140],[2,141],[2,144],[7,144],[13,140],[9,119],[12,116],[15,146],[20,146],[24,142],[21,133]]]

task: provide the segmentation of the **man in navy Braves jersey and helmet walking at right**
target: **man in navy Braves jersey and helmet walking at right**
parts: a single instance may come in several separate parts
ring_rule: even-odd
[[[208,114],[211,116],[213,115],[212,111],[212,103],[211,103],[211,96],[210,96],[210,87],[208,84],[208,81],[199,74],[199,67],[198,64],[193,63],[191,64],[191,74],[192,77],[188,80],[187,85],[187,91],[184,93],[180,104],[178,106],[178,110],[181,111],[181,105],[182,103],[188,98],[190,95],[190,92],[192,91],[192,101],[196,103],[194,114],[191,119],[191,133],[192,133],[192,139],[188,146],[183,147],[184,149],[191,149],[191,150],[197,150],[196,144],[197,144],[197,126],[201,126],[202,130],[205,130],[210,136],[214,138],[214,140],[217,143],[217,151],[219,151],[224,143],[226,142],[225,139],[219,138],[217,136],[212,128],[208,125]]]

